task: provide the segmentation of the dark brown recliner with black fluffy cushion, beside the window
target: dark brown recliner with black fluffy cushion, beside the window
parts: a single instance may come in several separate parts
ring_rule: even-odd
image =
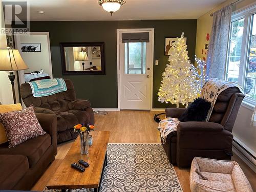
[[[218,96],[209,122],[180,122],[177,132],[162,141],[170,163],[187,167],[194,157],[230,160],[231,132],[244,96],[238,88],[228,88]],[[166,117],[179,118],[184,110],[167,108]]]

